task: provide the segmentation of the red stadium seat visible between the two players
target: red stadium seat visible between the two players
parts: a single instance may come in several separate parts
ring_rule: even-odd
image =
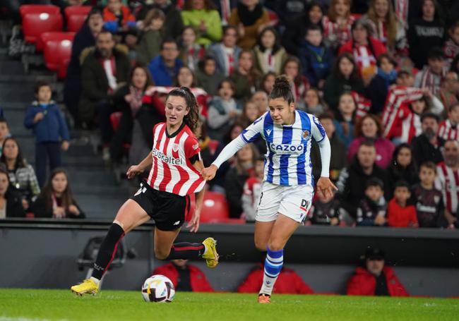
[[[225,195],[222,193],[206,192],[204,194],[201,222],[225,223],[229,219],[229,208]]]

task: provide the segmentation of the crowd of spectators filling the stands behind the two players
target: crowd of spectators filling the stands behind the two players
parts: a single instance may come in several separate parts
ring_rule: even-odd
[[[459,227],[457,1],[57,2],[93,6],[73,40],[64,102],[77,128],[99,131],[105,162],[122,162],[126,147],[129,163],[140,162],[167,93],[186,86],[209,166],[268,110],[275,76],[285,74],[297,108],[326,129],[338,186],[314,200],[305,224]],[[35,169],[0,121],[0,217],[83,218],[59,169],[66,122],[49,84],[37,83],[35,95],[24,119]],[[318,146],[308,152],[318,178]],[[254,221],[265,153],[261,141],[247,145],[208,183],[225,193],[230,217]]]

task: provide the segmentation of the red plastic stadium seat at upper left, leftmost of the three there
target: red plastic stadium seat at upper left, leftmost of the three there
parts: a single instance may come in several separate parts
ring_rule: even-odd
[[[23,33],[26,42],[35,44],[37,52],[43,49],[40,36],[44,32],[61,31],[62,16],[60,13],[26,13],[23,16]]]

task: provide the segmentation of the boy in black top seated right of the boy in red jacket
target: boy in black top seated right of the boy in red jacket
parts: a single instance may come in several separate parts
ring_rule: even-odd
[[[434,186],[436,166],[425,162],[419,167],[420,183],[412,188],[412,203],[415,204],[419,227],[438,227],[445,206],[440,190]]]

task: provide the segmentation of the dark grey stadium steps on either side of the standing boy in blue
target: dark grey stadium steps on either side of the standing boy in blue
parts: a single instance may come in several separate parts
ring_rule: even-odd
[[[37,78],[52,78],[43,68],[30,68],[24,72],[23,64],[6,55],[0,47],[0,107],[14,137],[20,143],[23,156],[35,164],[35,138],[23,126],[25,112],[34,99],[34,82]],[[89,139],[82,140],[82,136]],[[115,179],[106,169],[100,155],[95,152],[97,133],[71,131],[71,146],[62,153],[62,163],[68,171],[71,188],[78,205],[87,217],[113,219],[119,206],[129,197],[129,184]]]

